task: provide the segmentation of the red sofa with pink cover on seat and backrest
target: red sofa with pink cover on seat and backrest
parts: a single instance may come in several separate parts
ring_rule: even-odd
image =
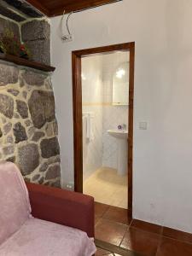
[[[93,211],[90,196],[25,183],[13,163],[0,164],[1,256],[91,256]]]

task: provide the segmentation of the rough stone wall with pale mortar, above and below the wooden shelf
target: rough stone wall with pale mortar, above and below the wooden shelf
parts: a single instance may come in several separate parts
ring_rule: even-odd
[[[33,60],[49,64],[49,24],[30,20],[19,26],[0,17],[28,44]],[[26,181],[61,187],[55,99],[49,73],[0,61],[0,160],[19,166]]]

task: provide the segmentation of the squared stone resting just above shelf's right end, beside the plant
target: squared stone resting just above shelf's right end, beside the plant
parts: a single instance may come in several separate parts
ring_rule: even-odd
[[[50,65],[50,41],[37,40],[28,41],[26,46],[32,53],[32,61],[38,61],[46,65]]]

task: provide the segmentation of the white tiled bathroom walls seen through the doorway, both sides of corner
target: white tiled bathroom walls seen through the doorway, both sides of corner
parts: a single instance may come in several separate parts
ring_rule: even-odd
[[[117,143],[107,131],[121,124],[128,125],[128,106],[111,104],[113,73],[125,61],[129,61],[128,52],[89,56],[82,60],[83,112],[95,114],[95,138],[87,142],[84,137],[84,179],[101,166],[117,167]]]

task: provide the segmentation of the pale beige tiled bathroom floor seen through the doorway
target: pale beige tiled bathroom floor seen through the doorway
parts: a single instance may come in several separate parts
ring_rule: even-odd
[[[84,181],[84,194],[93,196],[97,202],[126,209],[127,180],[116,170],[102,167]]]

